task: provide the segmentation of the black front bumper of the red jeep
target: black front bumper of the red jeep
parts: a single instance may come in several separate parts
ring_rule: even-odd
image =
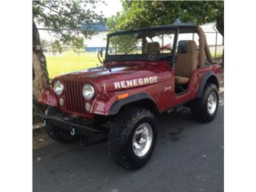
[[[106,130],[96,129],[93,121],[81,118],[75,115],[65,115],[62,113],[54,115],[43,115],[34,113],[42,118],[43,121],[47,120],[50,124],[61,127],[63,130],[71,131],[76,130],[77,134],[91,135],[94,133],[108,134]]]

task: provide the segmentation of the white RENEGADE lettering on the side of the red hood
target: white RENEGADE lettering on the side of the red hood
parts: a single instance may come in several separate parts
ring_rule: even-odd
[[[157,76],[114,82],[114,85],[115,85],[115,89],[121,89],[121,88],[141,86],[142,84],[152,84],[156,82],[158,82]]]

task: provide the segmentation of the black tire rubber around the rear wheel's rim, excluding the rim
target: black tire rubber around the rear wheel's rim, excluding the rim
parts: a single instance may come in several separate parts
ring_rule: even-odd
[[[209,95],[215,92],[217,96],[217,106],[213,114],[210,114],[207,110],[207,99]],[[192,116],[199,122],[210,122],[212,121],[218,111],[219,106],[219,93],[216,84],[207,84],[204,88],[204,92],[201,98],[197,98],[191,102],[191,113]]]

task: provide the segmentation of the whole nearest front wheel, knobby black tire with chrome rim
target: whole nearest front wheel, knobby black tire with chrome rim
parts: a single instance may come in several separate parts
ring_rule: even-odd
[[[130,108],[117,116],[110,130],[109,152],[118,165],[138,169],[150,160],[156,139],[154,114],[143,108]]]

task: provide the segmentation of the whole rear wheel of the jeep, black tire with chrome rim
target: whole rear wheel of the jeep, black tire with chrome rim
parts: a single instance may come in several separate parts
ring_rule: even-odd
[[[200,122],[212,121],[218,111],[219,93],[215,84],[208,84],[203,96],[191,103],[191,113]]]

